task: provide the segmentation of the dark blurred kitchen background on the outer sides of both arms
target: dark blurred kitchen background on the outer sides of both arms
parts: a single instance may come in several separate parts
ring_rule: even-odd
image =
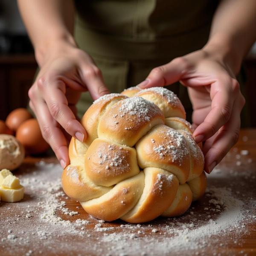
[[[15,108],[26,107],[27,92],[37,70],[33,47],[16,0],[0,0],[0,119]],[[256,44],[244,60],[247,110],[256,127]]]

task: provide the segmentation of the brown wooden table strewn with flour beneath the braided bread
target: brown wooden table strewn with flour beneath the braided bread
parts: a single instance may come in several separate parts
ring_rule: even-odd
[[[241,150],[247,150],[249,154],[246,155],[247,151],[240,154]],[[57,175],[47,177],[47,172],[53,172],[56,167],[52,165],[44,167],[42,162],[35,166],[37,161],[36,158],[27,158],[16,172],[23,183],[28,184],[24,200],[16,204],[0,203],[1,256],[256,255],[255,129],[241,131],[239,142],[212,175],[208,176],[209,191],[200,201],[193,203],[186,214],[175,219],[158,218],[138,226],[126,225],[122,221],[100,223],[99,220],[88,216],[78,202],[61,193],[56,196],[56,200],[65,201],[64,208],[67,208],[68,212],[71,211],[71,215],[73,215],[72,211],[78,211],[79,215],[65,215],[57,209],[55,217],[61,217],[65,224],[43,223],[40,207],[45,206],[40,205],[40,201],[47,198],[45,195],[49,195],[49,200],[52,200],[55,193],[58,193],[58,188],[56,191],[50,189],[46,192],[40,186],[47,188],[48,183],[55,184],[55,178],[60,176],[61,170],[58,168]],[[53,158],[45,161],[56,163]],[[39,182],[36,177],[43,177],[44,181]],[[225,200],[228,207],[225,206],[225,202],[221,204],[212,191],[217,195],[221,191],[224,196],[227,194]],[[217,200],[217,203],[210,204],[209,201],[212,199]],[[237,207],[239,202],[244,203],[240,208]],[[47,200],[44,204],[47,204]],[[236,216],[239,219],[236,220]],[[230,222],[230,226],[226,225],[225,218],[227,223]],[[86,223],[76,226],[77,219],[86,220]],[[47,226],[44,227],[47,232],[44,232],[43,226]],[[209,227],[208,235],[206,227]],[[11,233],[8,233],[8,230]],[[8,235],[12,234],[17,238],[8,239]]]

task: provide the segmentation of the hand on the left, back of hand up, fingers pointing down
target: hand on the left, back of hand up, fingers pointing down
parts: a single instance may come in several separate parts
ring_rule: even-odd
[[[34,111],[44,139],[52,147],[64,168],[69,164],[65,131],[78,140],[86,139],[83,126],[76,119],[76,103],[84,91],[95,100],[109,93],[101,71],[81,49],[61,44],[52,47],[29,89],[29,106]]]

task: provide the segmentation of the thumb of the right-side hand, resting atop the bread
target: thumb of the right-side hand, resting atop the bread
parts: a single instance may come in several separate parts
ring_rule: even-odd
[[[149,87],[163,87],[175,83],[183,78],[190,66],[186,58],[175,58],[168,64],[151,70],[148,77],[138,84],[138,86],[144,89]]]

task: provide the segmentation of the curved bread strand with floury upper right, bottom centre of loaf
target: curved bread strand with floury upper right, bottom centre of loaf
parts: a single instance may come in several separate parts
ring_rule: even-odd
[[[121,217],[130,223],[151,221],[160,216],[173,202],[179,181],[170,172],[160,168],[145,168],[143,193],[130,212]]]

